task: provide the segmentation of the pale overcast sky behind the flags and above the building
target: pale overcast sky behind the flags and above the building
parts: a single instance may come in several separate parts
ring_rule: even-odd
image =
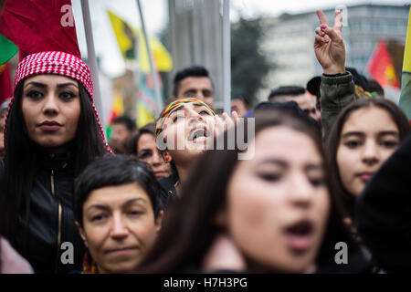
[[[207,0],[204,0],[207,1]],[[136,0],[90,0],[90,13],[97,54],[101,57],[103,71],[111,76],[119,76],[124,70],[120,49],[111,28],[107,9],[121,16],[132,26],[140,27],[140,17]],[[168,23],[167,0],[141,0],[142,11],[150,35],[158,36]],[[300,13],[318,8],[331,8],[336,5],[355,4],[392,4],[406,5],[410,0],[231,0],[231,21],[239,14],[245,17],[279,16],[282,13]],[[79,47],[87,56],[84,26],[82,24],[80,0],[72,0],[74,16],[79,37]]]

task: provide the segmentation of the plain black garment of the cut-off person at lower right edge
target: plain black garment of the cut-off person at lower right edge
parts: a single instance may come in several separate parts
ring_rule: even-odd
[[[388,273],[411,271],[411,135],[374,173],[357,201],[357,229]]]

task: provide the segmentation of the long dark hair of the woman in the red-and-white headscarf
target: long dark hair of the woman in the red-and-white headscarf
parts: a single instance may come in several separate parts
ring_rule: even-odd
[[[18,214],[29,212],[29,194],[38,164],[37,144],[29,139],[22,113],[23,83],[17,85],[14,103],[10,108],[5,132],[4,172],[0,184],[0,234],[11,241],[16,231]],[[95,157],[104,155],[105,145],[100,136],[99,123],[92,107],[90,95],[79,84],[80,114],[77,133],[70,142],[77,176]],[[28,220],[28,219],[27,219]]]

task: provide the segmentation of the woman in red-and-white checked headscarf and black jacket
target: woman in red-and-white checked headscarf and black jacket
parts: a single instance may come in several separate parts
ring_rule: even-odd
[[[2,234],[35,272],[81,265],[85,248],[74,224],[73,180],[107,152],[89,67],[59,51],[25,57],[5,120],[0,221]],[[75,255],[66,265],[60,258],[65,242]]]

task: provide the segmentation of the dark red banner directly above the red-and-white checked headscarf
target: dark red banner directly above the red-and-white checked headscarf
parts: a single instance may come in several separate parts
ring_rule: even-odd
[[[70,0],[6,1],[0,34],[19,48],[19,57],[63,51],[80,57]]]

